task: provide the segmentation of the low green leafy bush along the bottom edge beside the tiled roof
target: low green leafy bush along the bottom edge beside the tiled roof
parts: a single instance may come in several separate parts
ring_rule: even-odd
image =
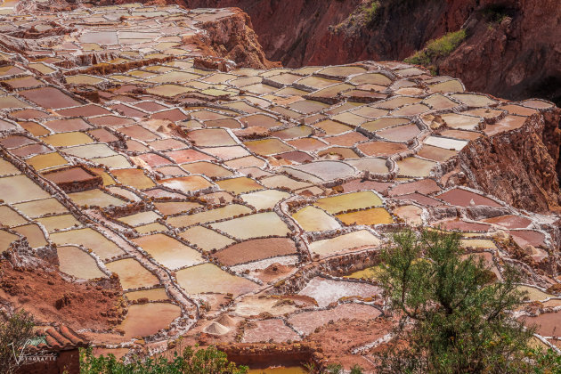
[[[193,350],[183,349],[183,354],[175,353],[173,360],[163,357],[149,357],[142,360],[134,357],[131,362],[118,361],[113,354],[95,357],[92,348],[80,351],[80,374],[244,374],[245,366],[237,367],[228,362],[226,354],[215,346]]]

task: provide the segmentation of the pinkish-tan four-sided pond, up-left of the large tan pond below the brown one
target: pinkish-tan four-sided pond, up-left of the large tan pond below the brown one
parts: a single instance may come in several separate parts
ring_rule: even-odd
[[[133,241],[148,252],[150,256],[153,256],[159,264],[166,266],[168,269],[175,270],[203,261],[199,252],[195,249],[162,233],[142,236],[133,239]]]

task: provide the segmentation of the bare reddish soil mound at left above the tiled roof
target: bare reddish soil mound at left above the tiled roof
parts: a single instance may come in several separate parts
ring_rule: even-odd
[[[0,302],[23,308],[37,321],[72,329],[110,329],[125,312],[118,280],[69,282],[49,264],[14,268],[0,262]]]

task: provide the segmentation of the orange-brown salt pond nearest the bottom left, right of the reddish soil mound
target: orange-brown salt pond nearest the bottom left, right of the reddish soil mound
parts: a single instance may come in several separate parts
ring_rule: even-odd
[[[125,331],[126,338],[148,337],[166,329],[180,316],[181,308],[171,303],[129,305],[125,321],[118,328]]]

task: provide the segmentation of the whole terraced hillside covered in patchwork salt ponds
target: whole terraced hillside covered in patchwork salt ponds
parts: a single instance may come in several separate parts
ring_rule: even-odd
[[[91,311],[105,324],[68,317],[84,297],[37,307],[45,324],[102,353],[183,337],[240,361],[369,368],[392,323],[366,270],[391,232],[423,225],[462,232],[499,280],[519,268],[520,313],[557,344],[552,103],[401,62],[271,69],[236,9],[0,13],[4,265],[120,297]],[[1,286],[6,307],[46,303]]]

